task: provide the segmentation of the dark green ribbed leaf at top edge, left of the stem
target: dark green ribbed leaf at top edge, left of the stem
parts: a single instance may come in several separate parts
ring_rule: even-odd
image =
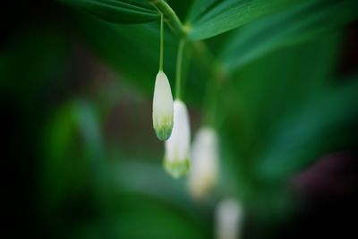
[[[133,0],[62,0],[105,21],[141,23],[155,21],[158,12],[146,1]]]

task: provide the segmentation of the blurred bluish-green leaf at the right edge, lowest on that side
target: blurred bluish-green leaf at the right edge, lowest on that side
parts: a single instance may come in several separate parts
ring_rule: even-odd
[[[325,153],[353,146],[358,120],[357,79],[311,100],[279,124],[258,164],[262,178],[285,180]]]

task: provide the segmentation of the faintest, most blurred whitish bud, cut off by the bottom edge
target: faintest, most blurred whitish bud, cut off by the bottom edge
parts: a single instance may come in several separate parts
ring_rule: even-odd
[[[239,239],[243,223],[243,209],[238,201],[219,201],[215,213],[217,239]]]

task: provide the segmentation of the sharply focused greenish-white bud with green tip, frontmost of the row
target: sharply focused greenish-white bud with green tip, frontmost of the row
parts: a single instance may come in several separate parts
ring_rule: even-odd
[[[166,141],[173,128],[173,96],[166,74],[159,71],[153,97],[153,128],[161,141]]]

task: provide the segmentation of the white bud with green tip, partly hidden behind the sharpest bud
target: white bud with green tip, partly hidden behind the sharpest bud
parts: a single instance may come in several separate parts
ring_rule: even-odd
[[[189,170],[190,125],[185,104],[174,101],[174,127],[170,138],[166,141],[164,166],[175,178],[186,174]]]

